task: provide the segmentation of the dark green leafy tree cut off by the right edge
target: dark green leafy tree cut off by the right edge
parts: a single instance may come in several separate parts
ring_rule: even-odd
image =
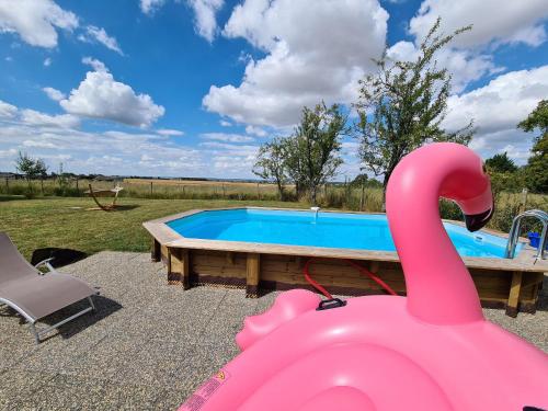
[[[540,135],[534,139],[525,174],[527,187],[530,191],[548,193],[548,100],[540,101],[517,127],[526,133],[532,133],[537,128],[540,130]]]

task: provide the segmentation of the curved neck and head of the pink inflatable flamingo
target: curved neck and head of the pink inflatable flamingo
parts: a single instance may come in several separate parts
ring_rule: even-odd
[[[386,193],[390,231],[406,276],[411,315],[430,323],[483,320],[473,282],[445,231],[439,197],[455,201],[475,231],[493,204],[481,159],[450,142],[424,146],[395,169]]]

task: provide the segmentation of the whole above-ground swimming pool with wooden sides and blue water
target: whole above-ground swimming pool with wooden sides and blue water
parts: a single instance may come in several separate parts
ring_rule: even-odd
[[[183,288],[207,284],[242,287],[250,297],[266,289],[310,289],[304,276],[308,265],[312,277],[331,293],[383,294],[377,283],[349,264],[351,260],[376,273],[398,294],[407,292],[383,214],[196,209],[144,226],[152,237],[152,260],[163,261],[168,282]],[[483,306],[506,308],[510,315],[535,312],[548,264],[535,260],[534,249],[520,243],[515,258],[505,259],[505,233],[469,232],[457,221],[444,221],[444,227]],[[421,252],[427,259],[433,251],[424,246]],[[439,275],[445,275],[443,269]]]

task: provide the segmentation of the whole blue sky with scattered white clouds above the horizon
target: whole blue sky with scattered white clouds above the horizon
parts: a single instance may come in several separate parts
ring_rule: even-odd
[[[526,162],[515,124],[548,98],[546,0],[0,0],[0,170],[249,178],[258,147],[302,105],[350,105],[385,45],[413,58],[441,15],[473,24],[438,56],[447,129]],[[496,10],[496,14],[493,14]],[[359,170],[344,141],[340,179]]]

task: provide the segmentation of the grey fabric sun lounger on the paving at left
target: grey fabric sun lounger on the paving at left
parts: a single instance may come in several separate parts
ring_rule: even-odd
[[[5,304],[23,316],[31,327],[36,343],[41,336],[95,309],[91,296],[99,292],[72,275],[58,273],[52,259],[31,265],[20,254],[7,233],[0,232],[0,305]],[[47,267],[46,274],[41,266]],[[48,327],[36,330],[36,321],[73,302],[88,298],[90,307]]]

